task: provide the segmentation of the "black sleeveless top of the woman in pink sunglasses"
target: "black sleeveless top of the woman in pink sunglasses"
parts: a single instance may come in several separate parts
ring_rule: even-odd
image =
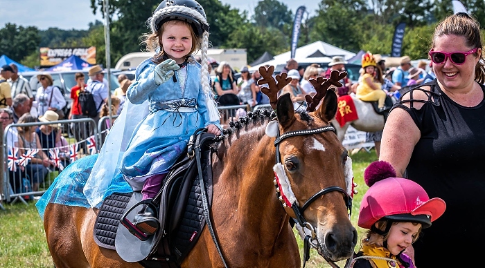
[[[396,103],[421,131],[407,166],[407,178],[421,184],[430,198],[442,198],[446,211],[414,243],[417,267],[448,267],[451,251],[461,267],[476,265],[485,239],[485,101],[465,107],[448,97],[434,81],[430,90],[414,88],[409,101]],[[421,109],[412,95],[425,92]],[[485,86],[482,85],[485,93]]]

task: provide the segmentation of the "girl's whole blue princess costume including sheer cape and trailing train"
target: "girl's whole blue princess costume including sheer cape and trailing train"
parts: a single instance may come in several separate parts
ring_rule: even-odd
[[[177,82],[169,79],[160,86],[154,82],[155,66],[146,59],[136,68],[136,82],[100,152],[76,160],[59,174],[36,204],[41,218],[48,203],[99,208],[114,192],[141,190],[145,178],[170,169],[197,128],[220,128],[210,93],[202,89],[197,61],[191,58],[175,72]],[[215,110],[212,121],[210,105]]]

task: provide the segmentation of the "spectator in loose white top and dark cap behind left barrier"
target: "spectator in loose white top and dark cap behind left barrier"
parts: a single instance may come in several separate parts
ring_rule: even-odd
[[[37,88],[35,101],[37,103],[37,115],[44,115],[46,111],[58,111],[64,108],[67,102],[60,88],[54,86],[54,81],[49,73],[37,75],[37,80],[42,86]]]

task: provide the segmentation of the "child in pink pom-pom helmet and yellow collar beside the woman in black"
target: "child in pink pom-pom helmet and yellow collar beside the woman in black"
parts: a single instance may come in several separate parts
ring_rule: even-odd
[[[352,267],[414,268],[404,251],[418,239],[421,229],[443,215],[445,202],[430,199],[412,180],[396,178],[388,162],[371,163],[364,180],[370,188],[360,203],[358,225],[369,231]]]

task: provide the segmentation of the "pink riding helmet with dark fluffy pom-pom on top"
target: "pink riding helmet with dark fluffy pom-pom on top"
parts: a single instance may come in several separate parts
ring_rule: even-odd
[[[360,203],[358,226],[371,229],[380,219],[396,222],[419,222],[423,228],[443,215],[446,203],[441,198],[430,199],[416,182],[396,178],[388,162],[372,162],[364,172],[369,190]]]

